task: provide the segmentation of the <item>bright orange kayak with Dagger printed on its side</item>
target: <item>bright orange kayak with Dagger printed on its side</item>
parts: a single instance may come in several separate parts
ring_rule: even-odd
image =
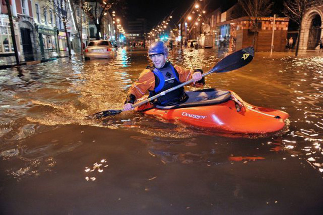
[[[285,127],[288,113],[244,102],[229,90],[203,89],[186,92],[189,99],[174,106],[140,106],[136,110],[166,120],[225,133],[266,134]]]

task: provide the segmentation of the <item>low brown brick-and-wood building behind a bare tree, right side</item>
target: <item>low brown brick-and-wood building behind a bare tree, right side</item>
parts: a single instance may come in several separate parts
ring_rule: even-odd
[[[284,51],[287,44],[287,17],[258,17],[254,27],[254,17],[237,17],[237,6],[225,12],[217,9],[209,15],[210,34],[215,49],[235,51],[253,44],[256,51],[270,51],[274,30],[274,51]],[[255,35],[256,34],[256,35]]]

